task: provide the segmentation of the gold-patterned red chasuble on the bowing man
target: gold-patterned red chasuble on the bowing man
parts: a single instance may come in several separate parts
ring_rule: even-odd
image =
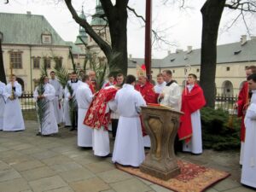
[[[110,113],[105,113],[107,104],[114,99],[117,92],[116,88],[102,89],[96,93],[96,96],[90,103],[90,107],[84,118],[84,125],[91,128],[100,129],[101,126],[108,131],[108,125],[111,122]]]

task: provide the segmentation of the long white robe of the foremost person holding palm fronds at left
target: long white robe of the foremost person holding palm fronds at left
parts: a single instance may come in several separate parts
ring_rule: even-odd
[[[38,101],[38,87],[36,87],[33,96],[34,99]],[[51,84],[44,84],[44,96],[44,101],[46,102],[46,110],[44,112],[45,117],[42,124],[42,130],[39,125],[39,132],[46,136],[57,133],[59,131],[54,111],[55,88]]]

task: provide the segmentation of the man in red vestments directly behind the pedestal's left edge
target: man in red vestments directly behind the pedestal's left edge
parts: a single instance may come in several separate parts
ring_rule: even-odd
[[[145,102],[148,103],[157,103],[156,93],[154,92],[154,85],[151,84],[145,76],[138,77],[138,84],[135,85],[135,90],[139,91]],[[144,147],[150,148],[150,138],[145,130],[143,125],[143,119],[141,117],[142,129],[143,129],[143,142]]]

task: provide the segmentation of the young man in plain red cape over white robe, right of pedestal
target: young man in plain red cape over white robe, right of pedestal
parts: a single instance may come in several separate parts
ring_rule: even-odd
[[[184,114],[180,118],[180,127],[177,134],[179,140],[184,140],[183,151],[201,154],[200,109],[205,106],[206,100],[203,95],[203,90],[196,84],[196,79],[196,75],[190,73],[188,76],[188,84],[183,90],[181,111]]]

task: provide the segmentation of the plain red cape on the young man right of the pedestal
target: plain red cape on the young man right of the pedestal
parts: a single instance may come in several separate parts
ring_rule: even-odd
[[[183,90],[181,108],[181,111],[184,114],[180,117],[180,126],[177,134],[179,140],[185,140],[186,143],[189,143],[193,134],[191,113],[194,113],[196,110],[204,107],[206,100],[203,91],[198,84],[195,84],[190,92],[187,87],[185,89]]]

